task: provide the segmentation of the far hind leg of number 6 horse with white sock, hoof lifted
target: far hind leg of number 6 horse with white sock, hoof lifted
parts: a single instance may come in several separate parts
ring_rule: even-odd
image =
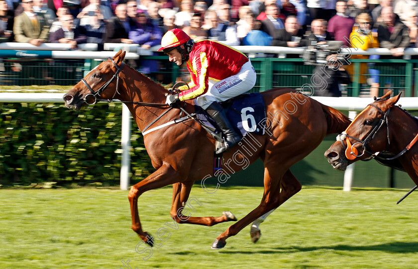
[[[302,184],[298,181],[298,179],[295,178],[295,176],[292,174],[290,170],[286,171],[285,175],[282,178],[282,181],[280,183],[280,204],[279,206],[286,202],[290,197],[298,193],[301,188]],[[275,208],[276,209],[276,208]],[[264,220],[271,214],[275,209],[270,210],[266,214],[262,215],[258,219],[256,219],[250,229],[250,236],[251,241],[253,243],[256,243],[260,237],[261,237],[261,231],[260,231],[260,224],[264,222]]]

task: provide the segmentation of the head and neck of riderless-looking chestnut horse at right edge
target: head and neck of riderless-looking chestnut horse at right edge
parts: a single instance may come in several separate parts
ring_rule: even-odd
[[[366,158],[405,171],[418,185],[418,120],[396,106],[401,94],[390,98],[392,91],[357,115],[337,142],[325,152],[334,169]],[[405,197],[405,196],[404,196]]]

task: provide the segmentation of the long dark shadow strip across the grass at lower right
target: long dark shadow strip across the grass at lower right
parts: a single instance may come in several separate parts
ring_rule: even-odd
[[[271,250],[251,250],[251,251],[233,251],[233,250],[224,250],[223,253],[230,254],[273,254],[273,253],[294,253],[294,252],[311,252],[316,250],[337,250],[337,251],[383,251],[389,253],[417,253],[418,252],[418,242],[390,242],[377,245],[368,245],[368,246],[350,246],[350,245],[334,245],[334,246],[319,246],[319,247],[299,247],[299,246],[290,246],[290,247],[278,247]]]

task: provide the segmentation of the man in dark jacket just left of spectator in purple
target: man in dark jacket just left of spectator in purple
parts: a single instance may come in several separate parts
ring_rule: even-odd
[[[106,23],[104,42],[132,44],[129,39],[129,21],[126,13],[126,4],[118,4],[115,8],[116,16],[113,16]]]

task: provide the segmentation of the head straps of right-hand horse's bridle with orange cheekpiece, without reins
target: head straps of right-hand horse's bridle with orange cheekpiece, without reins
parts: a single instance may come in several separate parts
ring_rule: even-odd
[[[374,125],[374,127],[373,127],[373,129],[370,131],[370,133],[367,135],[367,137],[365,138],[365,139],[363,139],[363,140],[361,140],[361,139],[358,139],[358,138],[356,138],[356,137],[353,137],[353,136],[350,136],[350,135],[348,135],[347,134],[347,130],[348,130],[348,128],[350,127],[350,126],[348,126],[347,127],[347,129],[344,131],[344,132],[342,132],[341,134],[339,134],[338,136],[337,136],[337,141],[340,141],[341,142],[341,144],[342,144],[342,146],[343,146],[343,148],[345,149],[345,157],[348,159],[348,160],[354,160],[354,159],[356,159],[357,157],[361,157],[361,156],[363,156],[363,154],[364,153],[368,153],[368,154],[370,154],[371,156],[372,156],[372,158],[374,158],[374,157],[376,157],[376,154],[373,154],[373,153],[371,153],[371,152],[369,152],[369,151],[367,151],[366,150],[366,147],[367,147],[367,144],[373,139],[373,138],[375,138],[375,136],[376,136],[376,134],[377,134],[377,132],[380,130],[380,128],[382,128],[382,126],[386,123],[386,127],[387,127],[387,131],[388,131],[388,134],[387,134],[387,137],[388,137],[388,144],[390,144],[391,143],[391,141],[390,141],[390,138],[389,138],[389,124],[388,124],[388,115],[389,115],[389,112],[391,111],[391,107],[386,111],[386,112],[384,112],[382,109],[380,109],[379,107],[377,107],[376,105],[374,105],[374,104],[368,104],[367,106],[373,106],[374,108],[376,108],[380,113],[382,113],[383,114],[383,118],[382,119],[380,119],[379,120],[379,122],[377,122],[375,125]],[[360,114],[358,115],[358,116],[360,116]],[[357,116],[357,117],[358,117]],[[355,121],[355,119],[353,120],[353,122]],[[352,144],[351,145],[351,143],[350,143],[350,140],[349,140],[349,138],[351,138],[351,139],[353,139],[353,140],[355,140],[355,141],[357,141],[356,143],[354,143],[354,144]],[[344,145],[344,142],[343,141],[346,141],[346,143],[347,143],[347,148],[345,147],[345,145]],[[359,155],[358,154],[358,151],[357,151],[357,148],[355,148],[355,145],[356,144],[360,144],[362,147],[363,147],[363,152]],[[396,156],[396,158],[398,158],[399,156]],[[395,158],[394,158],[395,159]]]

